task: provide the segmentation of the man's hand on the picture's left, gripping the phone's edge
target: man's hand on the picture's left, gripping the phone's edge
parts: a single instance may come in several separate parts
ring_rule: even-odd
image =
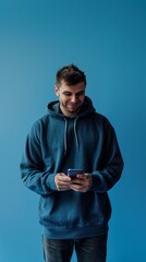
[[[54,177],[54,183],[59,191],[71,190],[72,179],[64,172],[58,172]]]

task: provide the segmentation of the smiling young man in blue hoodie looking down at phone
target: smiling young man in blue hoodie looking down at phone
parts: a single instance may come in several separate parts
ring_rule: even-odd
[[[21,163],[22,180],[40,195],[46,262],[105,262],[110,190],[123,159],[115,132],[85,96],[86,76],[74,64],[57,72],[59,100],[35,122]],[[75,177],[68,169],[80,169]]]

